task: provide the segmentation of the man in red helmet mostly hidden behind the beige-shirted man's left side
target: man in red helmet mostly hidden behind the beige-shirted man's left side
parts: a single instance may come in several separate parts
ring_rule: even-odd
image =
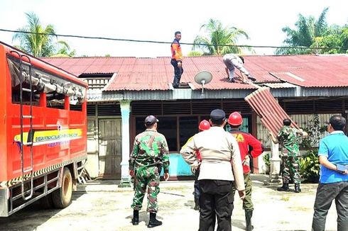
[[[210,129],[210,123],[208,120],[202,120],[200,121],[200,125],[198,126],[198,129],[200,130],[200,132],[204,131],[204,130],[209,130]],[[192,135],[192,137],[190,137],[190,139],[187,140],[187,142],[190,142],[190,140],[192,140],[192,138],[195,135]],[[183,147],[186,146],[187,142],[185,143],[185,145]],[[195,173],[195,184],[194,184],[194,191],[193,191],[193,196],[195,196],[195,210],[200,210],[200,186],[198,184],[198,176],[200,176],[200,151],[196,151],[197,154],[197,158],[199,160],[199,162],[194,162],[191,165],[191,170],[192,172]]]

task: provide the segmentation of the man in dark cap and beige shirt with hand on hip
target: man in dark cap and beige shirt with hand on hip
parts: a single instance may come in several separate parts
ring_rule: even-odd
[[[235,184],[239,197],[245,197],[243,167],[236,139],[224,130],[226,115],[221,109],[210,113],[209,130],[197,133],[180,154],[188,164],[197,162],[200,151],[200,231],[232,230],[233,194]],[[232,166],[231,166],[232,165]]]

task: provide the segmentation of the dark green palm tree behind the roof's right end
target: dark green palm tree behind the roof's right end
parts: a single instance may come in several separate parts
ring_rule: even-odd
[[[321,37],[327,33],[327,21],[326,14],[329,8],[325,8],[320,13],[319,18],[315,21],[313,16],[306,18],[302,14],[298,15],[298,21],[295,23],[296,29],[293,30],[286,26],[283,28],[283,32],[287,34],[287,38],[283,41],[286,46],[303,47],[303,48],[278,48],[276,54],[289,55],[289,54],[308,54],[311,52],[306,47],[310,47],[315,38]]]

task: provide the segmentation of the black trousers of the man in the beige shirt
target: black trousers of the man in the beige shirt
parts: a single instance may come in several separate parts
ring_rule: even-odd
[[[232,230],[233,181],[200,180],[200,230]]]

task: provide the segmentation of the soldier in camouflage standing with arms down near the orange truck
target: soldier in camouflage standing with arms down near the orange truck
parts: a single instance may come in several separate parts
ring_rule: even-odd
[[[138,134],[134,140],[133,151],[129,158],[129,175],[134,177],[134,198],[131,208],[133,211],[132,223],[138,225],[139,210],[143,204],[146,188],[148,191],[148,208],[150,220],[148,227],[162,225],[156,220],[158,209],[157,195],[160,192],[160,174],[163,167],[164,179],[168,180],[169,155],[168,144],[164,135],[157,132],[155,116],[145,119],[146,130]]]

